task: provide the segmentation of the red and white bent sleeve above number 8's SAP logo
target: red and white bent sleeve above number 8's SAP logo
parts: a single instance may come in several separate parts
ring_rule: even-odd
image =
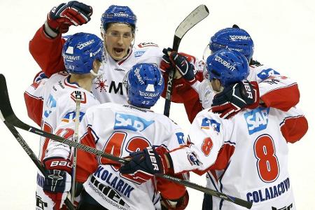
[[[267,107],[288,111],[300,101],[297,83],[286,76],[269,76],[258,86],[260,99]]]

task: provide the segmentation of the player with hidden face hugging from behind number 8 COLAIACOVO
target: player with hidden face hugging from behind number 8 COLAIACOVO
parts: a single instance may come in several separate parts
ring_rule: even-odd
[[[253,60],[254,44],[251,36],[244,29],[239,29],[236,25],[232,28],[226,28],[216,32],[216,34],[211,37],[209,45],[207,45],[207,48],[204,50],[204,57],[224,48],[241,52],[246,59],[248,59],[250,70],[247,80],[257,81],[259,83],[268,76],[279,75],[274,69],[261,65],[259,62]],[[165,51],[165,53],[169,52]],[[227,102],[226,99],[231,98],[227,88],[225,88],[226,91],[221,94],[221,97],[214,100],[214,96],[218,91],[214,87],[214,84],[209,83],[208,72],[202,71],[202,69],[204,69],[202,67],[202,61],[200,62],[190,55],[184,54],[184,56],[185,57],[176,52],[170,53],[169,56],[165,55],[163,58],[167,63],[162,62],[161,66],[167,69],[169,68],[169,63],[173,62],[176,65],[176,69],[178,69],[178,75],[183,75],[183,78],[174,80],[175,88],[172,99],[178,99],[179,97],[186,98],[183,104],[185,105],[190,122],[193,122],[197,113],[202,111],[202,109],[207,109],[211,106],[213,106],[212,111],[221,113],[221,117],[223,118],[230,118],[244,107],[250,107],[244,102],[235,100],[235,98],[234,102]],[[169,60],[168,57],[171,60]],[[176,59],[174,59],[175,57]],[[260,102],[264,103],[267,107],[288,111],[288,109],[299,102],[300,93],[297,84],[293,81],[292,83],[286,83],[286,80],[283,81],[282,77],[278,77],[277,80],[279,80],[279,86],[276,88],[270,86],[269,90],[269,95],[273,94],[274,97],[269,97],[269,95],[268,97],[261,96]],[[238,89],[241,87],[244,88],[244,85],[237,86]],[[198,94],[193,90],[196,90]],[[288,94],[294,97],[288,99]],[[211,173],[208,173],[208,176],[211,176]],[[208,183],[208,186],[210,187],[211,184],[212,183]],[[209,195],[204,195],[204,197],[204,209],[209,209],[208,206],[211,206],[211,197]]]

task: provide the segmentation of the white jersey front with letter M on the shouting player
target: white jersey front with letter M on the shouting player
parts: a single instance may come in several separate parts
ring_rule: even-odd
[[[107,55],[106,64],[99,69],[100,76],[93,81],[92,93],[101,103],[125,104],[127,94],[123,87],[123,78],[127,71],[139,63],[152,63],[160,66],[162,55],[162,49],[154,43],[140,43],[134,46],[129,55],[118,62]]]

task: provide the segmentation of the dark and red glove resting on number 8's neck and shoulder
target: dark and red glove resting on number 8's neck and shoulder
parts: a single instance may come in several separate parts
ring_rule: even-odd
[[[241,109],[255,109],[259,105],[258,83],[244,80],[225,87],[215,95],[212,112],[220,113],[221,118],[231,118]]]

